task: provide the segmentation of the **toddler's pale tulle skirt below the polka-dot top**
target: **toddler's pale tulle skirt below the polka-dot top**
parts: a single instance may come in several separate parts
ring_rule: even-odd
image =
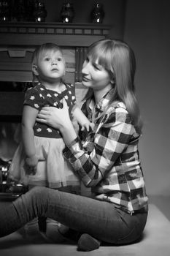
[[[72,165],[63,157],[65,147],[62,138],[42,138],[34,136],[36,155],[39,157],[35,175],[26,173],[26,154],[20,143],[9,167],[9,178],[24,185],[44,186],[53,189],[80,187],[80,179]]]

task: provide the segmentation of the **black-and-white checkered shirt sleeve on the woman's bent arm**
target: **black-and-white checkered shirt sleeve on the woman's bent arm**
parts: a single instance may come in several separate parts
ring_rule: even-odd
[[[103,118],[96,122],[91,137],[93,141],[87,137],[82,143],[76,138],[63,154],[85,186],[95,187],[112,170],[117,158],[128,146],[133,132],[134,126],[127,110],[109,108]]]

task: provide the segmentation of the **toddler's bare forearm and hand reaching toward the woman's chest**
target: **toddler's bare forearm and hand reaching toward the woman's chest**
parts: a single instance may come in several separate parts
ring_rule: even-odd
[[[80,108],[78,108],[77,106],[74,108],[73,110],[73,116],[74,118],[77,119],[78,124],[80,124],[80,126],[82,127],[82,131],[84,129],[87,129],[87,131],[89,132],[90,129],[93,130],[94,124],[90,123],[90,121],[88,120],[88,118],[85,116],[84,113],[82,113],[82,110],[80,110]]]

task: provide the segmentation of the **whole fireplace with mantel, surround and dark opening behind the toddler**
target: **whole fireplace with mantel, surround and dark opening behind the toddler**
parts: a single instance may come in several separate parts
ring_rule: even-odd
[[[66,82],[74,83],[77,103],[85,89],[81,67],[88,46],[109,35],[109,26],[75,23],[0,23],[0,194],[18,197],[25,188],[10,184],[7,171],[20,142],[24,91],[32,80],[31,55],[37,45],[54,42],[66,59]]]

